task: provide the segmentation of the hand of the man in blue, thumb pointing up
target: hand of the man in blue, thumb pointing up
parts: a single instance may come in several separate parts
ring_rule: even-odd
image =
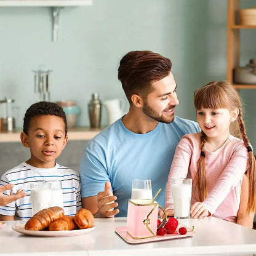
[[[117,199],[116,196],[113,196],[111,191],[111,183],[105,183],[105,191],[98,193],[97,201],[98,201],[98,210],[100,212],[101,217],[113,218],[114,215],[118,214],[119,210],[115,209],[118,207],[118,202],[114,202]]]

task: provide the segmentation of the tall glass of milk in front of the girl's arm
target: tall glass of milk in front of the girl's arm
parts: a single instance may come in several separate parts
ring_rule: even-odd
[[[172,178],[172,198],[174,200],[174,217],[190,218],[192,194],[191,178]]]

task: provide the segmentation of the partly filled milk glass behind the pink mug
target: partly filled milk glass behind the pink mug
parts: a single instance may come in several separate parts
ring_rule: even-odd
[[[131,199],[152,199],[151,180],[132,180]]]

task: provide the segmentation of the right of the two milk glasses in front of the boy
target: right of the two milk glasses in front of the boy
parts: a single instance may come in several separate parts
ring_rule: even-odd
[[[60,180],[47,180],[50,186],[50,202],[49,207],[59,206],[63,209],[62,182]]]

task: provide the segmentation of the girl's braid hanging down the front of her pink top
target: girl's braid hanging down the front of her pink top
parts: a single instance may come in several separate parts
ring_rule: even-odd
[[[204,161],[204,145],[206,143],[206,134],[201,132],[200,137],[200,147],[201,147],[201,156],[198,160],[198,193],[200,201],[204,201],[207,196],[207,186],[206,186],[206,163]]]

